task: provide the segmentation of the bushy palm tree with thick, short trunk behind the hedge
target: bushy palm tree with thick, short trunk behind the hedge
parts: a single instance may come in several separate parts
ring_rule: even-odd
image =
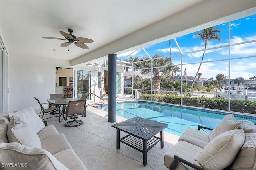
[[[162,58],[161,58],[162,57]],[[163,75],[168,74],[172,71],[172,67],[170,66],[170,58],[169,57],[164,57],[162,55],[154,55],[152,58],[160,58],[160,59],[155,59],[153,60],[153,90],[160,90],[160,84],[161,84],[161,77],[159,75],[160,72],[162,72]],[[148,58],[146,58],[148,59]],[[162,67],[163,66],[163,67]],[[141,68],[151,68],[151,62],[150,61],[145,61],[142,62]],[[141,74],[151,74],[151,69],[142,69]],[[154,91],[154,94],[160,94],[159,91]]]

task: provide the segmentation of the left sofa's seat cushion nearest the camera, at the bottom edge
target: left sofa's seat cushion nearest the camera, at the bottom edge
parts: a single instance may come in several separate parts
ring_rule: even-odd
[[[87,170],[73,149],[62,150],[53,156],[70,170]]]

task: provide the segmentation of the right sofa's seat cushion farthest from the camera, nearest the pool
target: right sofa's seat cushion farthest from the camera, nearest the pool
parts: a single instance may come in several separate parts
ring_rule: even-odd
[[[180,136],[179,141],[186,141],[198,147],[204,148],[210,142],[210,139],[208,133],[188,127]]]

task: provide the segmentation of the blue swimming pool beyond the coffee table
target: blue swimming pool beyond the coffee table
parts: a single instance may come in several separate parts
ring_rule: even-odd
[[[94,106],[108,111],[108,105]],[[171,104],[154,103],[148,101],[117,102],[116,115],[130,119],[135,116],[167,123],[164,131],[180,136],[188,127],[197,129],[198,125],[216,127],[222,118],[229,113],[176,106]],[[236,120],[246,119],[256,122],[256,115],[234,114]]]

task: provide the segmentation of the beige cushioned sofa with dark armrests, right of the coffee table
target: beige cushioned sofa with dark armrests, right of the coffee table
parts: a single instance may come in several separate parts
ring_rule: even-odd
[[[166,152],[164,165],[170,170],[256,170],[256,125],[229,114],[214,129],[188,128]]]

